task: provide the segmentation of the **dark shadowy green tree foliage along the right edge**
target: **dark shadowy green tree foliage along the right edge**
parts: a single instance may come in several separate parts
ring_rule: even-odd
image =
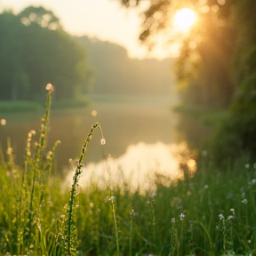
[[[236,158],[245,152],[256,158],[256,17],[255,1],[236,1],[237,28],[234,78],[236,94],[229,108],[228,119],[212,140],[218,161],[223,156]]]

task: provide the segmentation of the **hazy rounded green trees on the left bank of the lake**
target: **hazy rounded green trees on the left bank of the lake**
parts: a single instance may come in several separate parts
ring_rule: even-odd
[[[45,84],[68,99],[86,87],[84,48],[43,7],[0,14],[0,100],[41,100]]]

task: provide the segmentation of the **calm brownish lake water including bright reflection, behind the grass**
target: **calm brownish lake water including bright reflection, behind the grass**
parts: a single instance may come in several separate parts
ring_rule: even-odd
[[[52,110],[49,148],[54,141],[61,141],[56,151],[55,170],[62,172],[71,168],[68,160],[79,155],[92,124],[100,122],[107,143],[101,146],[100,131],[93,133],[85,158],[85,166],[90,172],[98,170],[100,173],[100,164],[107,163],[112,169],[122,169],[124,173],[140,170],[148,175],[157,169],[177,176],[180,161],[177,151],[186,146],[179,128],[179,116],[170,108],[173,103],[170,97],[98,97],[88,108]],[[43,114],[0,116],[0,119],[6,119],[6,125],[0,126],[1,146],[5,150],[6,138],[11,138],[19,164],[24,156],[28,132],[38,131]],[[104,159],[108,159],[107,162]],[[141,177],[136,179],[143,180]]]

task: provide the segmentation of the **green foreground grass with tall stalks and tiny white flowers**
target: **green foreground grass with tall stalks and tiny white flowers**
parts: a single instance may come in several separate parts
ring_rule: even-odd
[[[154,189],[131,191],[127,180],[83,188],[79,177],[96,123],[81,143],[71,189],[62,189],[63,180],[51,174],[58,142],[45,150],[51,98],[50,90],[37,136],[28,132],[23,166],[14,163],[10,141],[7,160],[0,157],[0,255],[255,255],[250,159],[219,170],[204,152],[196,173],[182,164],[182,180],[156,174]]]

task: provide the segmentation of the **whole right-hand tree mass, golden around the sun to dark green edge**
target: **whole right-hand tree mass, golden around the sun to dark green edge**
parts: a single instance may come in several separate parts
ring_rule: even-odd
[[[142,0],[119,0],[127,7]],[[176,76],[183,102],[228,107],[214,138],[220,158],[247,152],[256,157],[256,2],[254,0],[149,0],[140,40],[154,44],[165,33],[179,42]],[[188,7],[197,22],[186,34],[172,33],[170,20]]]

